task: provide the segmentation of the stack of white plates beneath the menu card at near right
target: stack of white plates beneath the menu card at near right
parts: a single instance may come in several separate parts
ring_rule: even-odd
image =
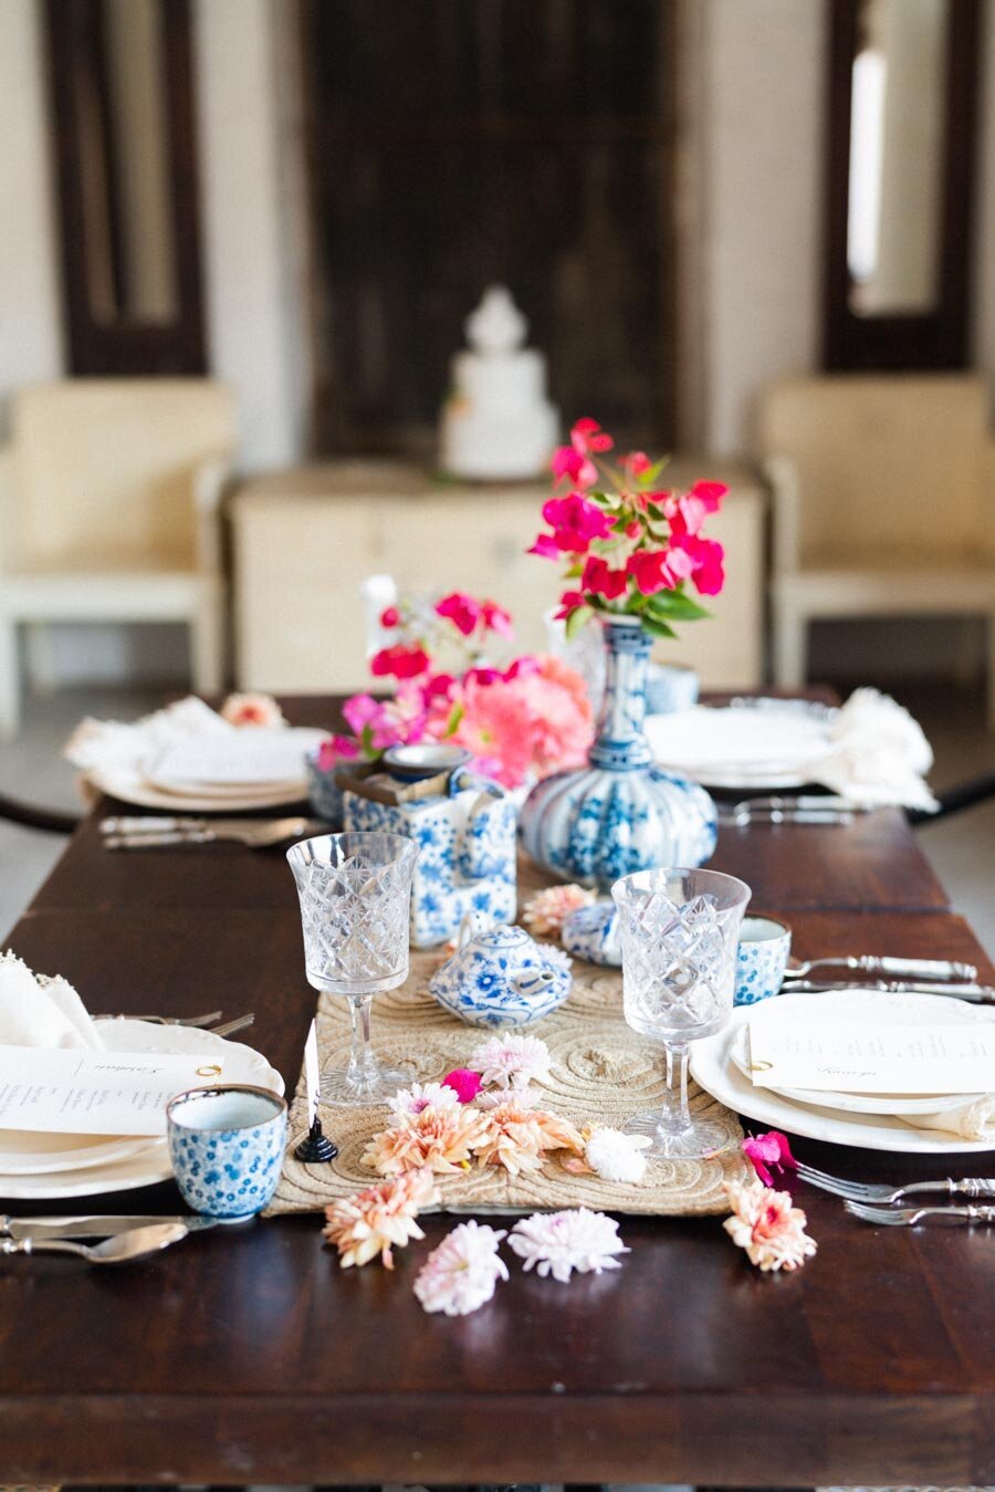
[[[864,1150],[910,1155],[970,1155],[995,1150],[992,1140],[962,1140],[934,1128],[916,1128],[914,1116],[961,1109],[983,1094],[889,1095],[844,1094],[794,1088],[761,1088],[749,1076],[747,1022],[755,1006],[740,1006],[712,1037],[691,1047],[695,1082],[735,1113],[768,1129],[852,1144]],[[779,995],[786,1015],[814,1021],[880,1022],[891,1025],[952,1025],[992,1021],[992,1012],[949,995],[889,995],[873,989],[843,989],[816,995]],[[992,1074],[995,1088],[995,1074]]]

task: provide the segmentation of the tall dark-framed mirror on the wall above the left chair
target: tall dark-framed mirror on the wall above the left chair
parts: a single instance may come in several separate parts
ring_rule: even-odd
[[[73,373],[200,373],[188,0],[49,0]]]

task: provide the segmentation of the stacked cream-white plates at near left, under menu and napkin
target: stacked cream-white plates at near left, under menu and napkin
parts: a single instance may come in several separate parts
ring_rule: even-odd
[[[260,1052],[195,1026],[148,1021],[101,1021],[110,1052],[191,1052],[224,1056],[227,1083],[252,1083],[283,1092],[283,1079]],[[152,1186],[173,1174],[166,1138],[149,1135],[37,1134],[0,1129],[0,1197],[16,1201],[94,1197]]]

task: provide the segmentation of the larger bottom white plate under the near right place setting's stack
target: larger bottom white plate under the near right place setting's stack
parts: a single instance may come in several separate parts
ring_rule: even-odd
[[[892,1001],[895,1012],[907,1001],[943,1001],[943,1010],[949,1019],[947,1006],[950,1001],[944,995],[882,995],[876,991],[861,991],[862,1000],[871,995],[877,1000]],[[810,995],[779,995],[777,998],[780,1001],[812,1000]],[[974,1006],[958,1003],[958,1007],[970,1012],[968,1019],[991,1019],[986,1012],[977,1010]],[[861,1150],[891,1150],[903,1155],[974,1155],[995,1150],[995,1140],[958,1140],[956,1135],[944,1135],[937,1129],[913,1129],[889,1115],[843,1113],[825,1104],[786,1098],[771,1088],[755,1088],[735,1062],[735,1044],[752,1009],[752,1006],[738,1006],[722,1031],[703,1041],[695,1041],[691,1047],[691,1073],[695,1082],[735,1113],[756,1119],[771,1129],[801,1134],[810,1140],[828,1140],[832,1144],[852,1144]],[[812,1007],[809,1006],[809,1009]],[[935,1012],[931,1019],[935,1019]],[[964,1094],[961,1101],[970,1103],[970,1094]],[[928,1109],[934,1109],[932,1100],[926,1106],[920,1106],[919,1112]]]

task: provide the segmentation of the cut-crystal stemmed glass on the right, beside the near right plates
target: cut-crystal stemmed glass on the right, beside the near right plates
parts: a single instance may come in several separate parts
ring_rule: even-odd
[[[667,1053],[661,1113],[637,1115],[628,1134],[649,1155],[700,1159],[725,1143],[722,1125],[688,1107],[691,1041],[729,1018],[740,924],[750,888],[715,870],[640,870],[612,886],[619,909],[625,1019]]]

